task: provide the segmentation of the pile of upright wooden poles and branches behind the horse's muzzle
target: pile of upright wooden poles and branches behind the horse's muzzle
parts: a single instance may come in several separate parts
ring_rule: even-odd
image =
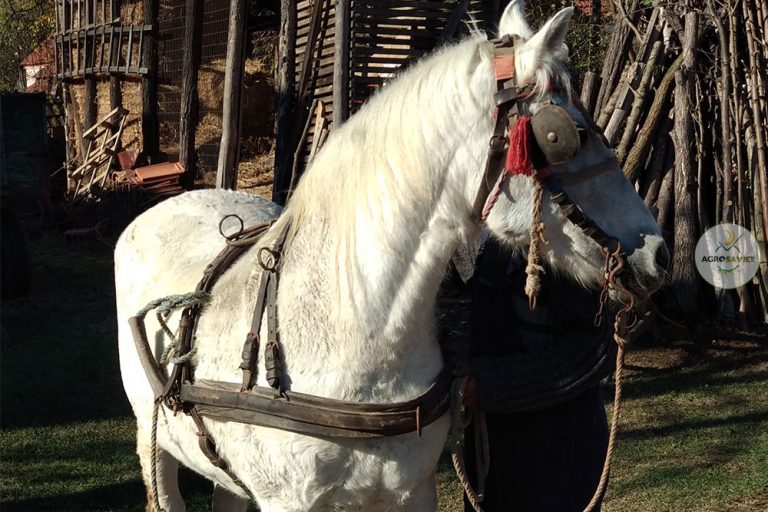
[[[615,3],[602,72],[586,74],[582,99],[672,249],[670,286],[657,302],[688,321],[709,310],[766,322],[765,264],[723,291],[701,280],[693,254],[706,229],[735,223],[756,236],[765,261],[768,3]]]

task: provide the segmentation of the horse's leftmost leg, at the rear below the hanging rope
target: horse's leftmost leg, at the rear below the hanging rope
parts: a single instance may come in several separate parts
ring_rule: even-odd
[[[147,512],[161,512],[155,510],[155,489],[152,484],[151,430],[142,427],[141,422],[139,422],[136,432],[136,453],[139,455],[141,474],[147,488]],[[179,492],[179,462],[170,453],[158,447],[155,470],[160,507],[165,512],[184,512],[186,506],[181,498],[181,492]]]

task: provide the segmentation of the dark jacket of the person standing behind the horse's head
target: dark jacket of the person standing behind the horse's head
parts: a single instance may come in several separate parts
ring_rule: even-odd
[[[485,244],[471,283],[470,366],[478,404],[491,413],[553,407],[613,370],[610,311],[594,325],[599,292],[547,269],[531,311],[525,278],[524,258]]]

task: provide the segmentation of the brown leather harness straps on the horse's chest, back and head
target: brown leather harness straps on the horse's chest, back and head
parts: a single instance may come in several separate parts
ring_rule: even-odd
[[[531,86],[517,87],[514,77],[515,39],[504,36],[489,41],[492,45],[496,65],[498,92],[496,124],[489,144],[484,177],[477,192],[473,217],[480,219],[494,184],[500,186],[504,172],[504,155],[508,151],[508,137],[505,132],[520,116],[519,104],[524,97],[530,97]],[[578,106],[578,105],[577,105]],[[557,107],[560,108],[560,107]],[[562,109],[561,109],[562,110]],[[555,114],[557,117],[558,114]],[[570,116],[567,115],[568,119]],[[562,117],[562,116],[560,116]],[[589,116],[585,115],[589,120]],[[571,120],[571,123],[573,121]],[[575,123],[573,123],[575,126]],[[594,125],[590,130],[599,133]],[[541,146],[541,141],[538,142]],[[578,150],[578,148],[577,148]],[[572,155],[575,156],[575,155]],[[550,162],[560,163],[560,162]],[[600,230],[573,203],[560,184],[571,184],[592,178],[611,170],[615,159],[582,171],[579,174],[554,174],[548,166],[536,166],[534,177],[546,185],[552,200],[560,206],[563,214],[579,226],[601,246],[612,245],[615,240]],[[228,216],[231,217],[231,216]],[[222,223],[228,217],[222,219]],[[239,220],[239,218],[238,218]],[[273,225],[273,222],[243,228],[226,236],[226,247],[206,267],[197,285],[196,293],[210,294],[224,272],[237,261],[247,249],[253,247]],[[407,402],[394,404],[370,404],[334,400],[307,395],[285,389],[281,383],[281,352],[278,336],[277,285],[280,256],[287,235],[287,226],[277,236],[274,246],[259,249],[258,262],[263,269],[256,307],[250,330],[245,337],[242,351],[242,382],[240,384],[194,379],[194,368],[190,362],[192,340],[199,322],[202,306],[195,304],[185,307],[179,325],[177,356],[183,361],[174,365],[166,377],[152,354],[149,346],[143,316],[131,317],[131,327],[139,359],[152,387],[155,399],[174,412],[188,414],[198,429],[200,447],[211,462],[224,470],[238,485],[245,488],[229,470],[226,462],[218,455],[216,445],[202,421],[207,417],[223,421],[235,421],[264,427],[288,430],[300,434],[329,438],[379,438],[417,432],[440,418],[448,409],[451,374],[444,369],[433,384],[422,395]],[[220,225],[221,231],[221,225]],[[223,233],[222,233],[223,235]],[[260,344],[259,332],[264,313],[267,316],[267,342],[265,344],[266,378],[271,387],[255,386],[257,356]],[[184,357],[187,356],[187,357]]]

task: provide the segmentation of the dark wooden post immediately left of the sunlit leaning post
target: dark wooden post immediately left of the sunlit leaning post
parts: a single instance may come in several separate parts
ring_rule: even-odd
[[[181,118],[179,120],[179,163],[184,167],[183,182],[192,185],[197,178],[195,133],[197,132],[197,70],[202,51],[203,0],[186,0],[184,58],[181,82]]]

